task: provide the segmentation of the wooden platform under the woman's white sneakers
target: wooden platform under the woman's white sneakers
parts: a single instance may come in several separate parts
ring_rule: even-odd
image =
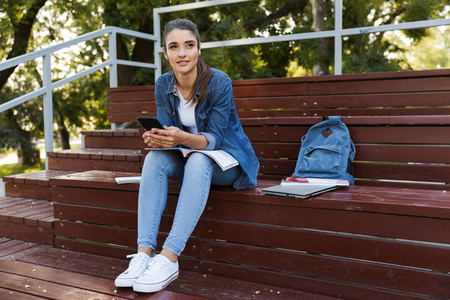
[[[130,288],[114,286],[114,278],[127,265],[128,260],[124,259],[36,246],[23,255],[15,253],[13,258],[0,259],[0,298],[3,289],[59,299],[70,287],[71,292],[80,296],[77,299],[91,295],[96,299],[334,299],[186,270],[181,270],[179,278],[165,290],[136,294]]]

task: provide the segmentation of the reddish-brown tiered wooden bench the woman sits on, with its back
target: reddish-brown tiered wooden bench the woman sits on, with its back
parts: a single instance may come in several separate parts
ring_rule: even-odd
[[[450,70],[233,85],[261,163],[258,187],[212,188],[180,258],[185,272],[346,299],[448,298]],[[108,97],[111,122],[155,115],[151,86],[109,89]],[[307,200],[262,195],[261,188],[292,174],[301,137],[322,115],[341,115],[350,129],[356,186]],[[91,170],[50,178],[58,248],[114,258],[135,251],[138,185],[117,185],[114,177],[139,172],[106,169],[102,153],[107,160],[114,151],[101,147],[110,135],[119,153],[135,150],[130,140],[121,147],[122,133],[112,132],[85,132],[86,144],[100,147],[80,151],[96,155]],[[142,129],[130,132],[141,153],[129,159],[142,165]],[[82,159],[76,151],[62,155]],[[171,183],[161,239],[178,192]],[[225,293],[232,295],[233,287]]]

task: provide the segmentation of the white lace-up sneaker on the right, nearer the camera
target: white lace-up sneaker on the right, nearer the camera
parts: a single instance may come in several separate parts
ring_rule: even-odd
[[[133,290],[154,293],[165,288],[178,278],[178,261],[171,262],[164,255],[156,255],[148,264],[148,269],[133,284]]]

